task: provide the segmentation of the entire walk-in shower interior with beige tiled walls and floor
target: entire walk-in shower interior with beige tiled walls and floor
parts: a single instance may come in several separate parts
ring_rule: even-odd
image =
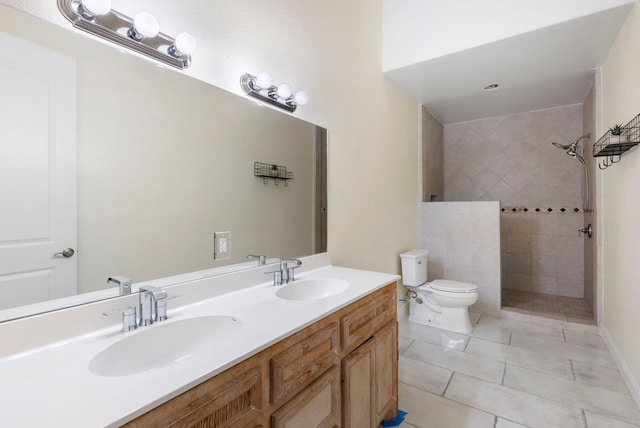
[[[500,201],[502,310],[595,322],[590,102],[445,125],[445,200]]]

